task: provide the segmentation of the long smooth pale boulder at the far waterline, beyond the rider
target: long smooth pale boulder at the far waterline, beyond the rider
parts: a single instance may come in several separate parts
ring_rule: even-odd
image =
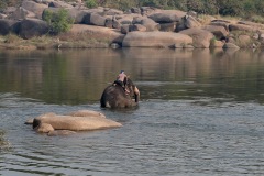
[[[190,44],[191,37],[172,32],[130,32],[125,35],[123,47],[174,47],[176,43]]]

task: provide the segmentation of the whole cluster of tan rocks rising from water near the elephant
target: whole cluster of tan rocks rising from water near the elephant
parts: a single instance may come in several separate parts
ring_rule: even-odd
[[[47,135],[68,135],[76,131],[91,131],[122,127],[107,119],[105,114],[91,110],[78,110],[68,114],[44,113],[25,122]]]

